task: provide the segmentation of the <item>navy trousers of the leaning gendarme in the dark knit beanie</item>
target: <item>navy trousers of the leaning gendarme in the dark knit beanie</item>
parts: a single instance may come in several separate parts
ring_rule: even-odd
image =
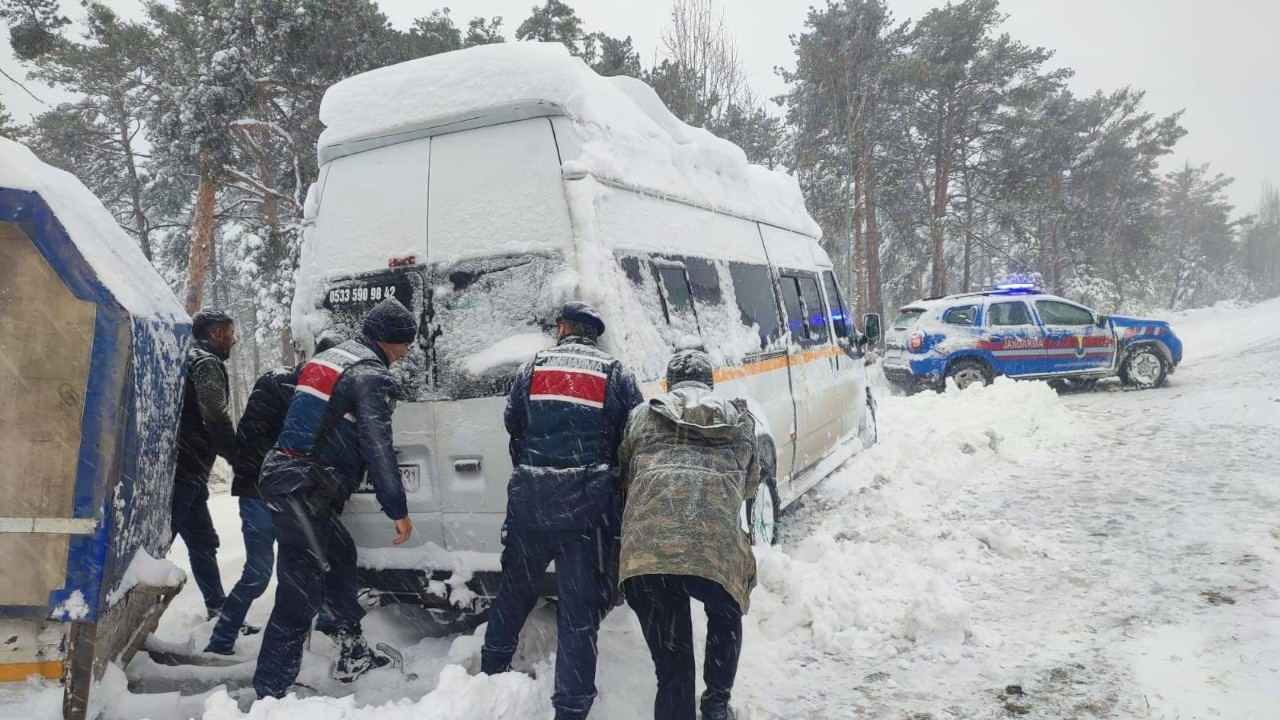
[[[276,560],[275,607],[262,632],[253,671],[259,697],[284,697],[302,667],[302,646],[321,602],[339,632],[360,633],[365,609],[357,600],[356,544],[335,515],[308,516],[292,500],[273,511]]]

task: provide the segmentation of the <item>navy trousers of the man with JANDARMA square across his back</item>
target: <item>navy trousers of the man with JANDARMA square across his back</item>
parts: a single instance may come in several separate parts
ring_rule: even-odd
[[[547,566],[556,561],[557,717],[586,717],[595,701],[596,632],[609,610],[612,579],[600,571],[609,557],[604,538],[612,533],[520,530],[507,534],[502,584],[489,609],[489,629],[480,651],[486,674],[511,669],[520,629],[538,602]]]

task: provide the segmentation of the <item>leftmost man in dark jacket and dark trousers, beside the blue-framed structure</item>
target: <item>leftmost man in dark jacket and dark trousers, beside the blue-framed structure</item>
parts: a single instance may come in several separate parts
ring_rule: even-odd
[[[205,610],[216,618],[227,597],[218,571],[218,530],[209,514],[209,473],[219,455],[236,461],[225,365],[236,346],[236,323],[220,310],[201,310],[191,319],[191,332],[195,343],[187,352],[170,521],[191,555],[191,574]]]

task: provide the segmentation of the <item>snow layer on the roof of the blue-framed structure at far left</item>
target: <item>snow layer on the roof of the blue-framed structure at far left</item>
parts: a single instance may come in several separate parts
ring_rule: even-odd
[[[186,322],[187,313],[138,243],[76,176],[42,163],[24,145],[0,137],[0,188],[35,192],[44,199],[97,279],[131,315]]]

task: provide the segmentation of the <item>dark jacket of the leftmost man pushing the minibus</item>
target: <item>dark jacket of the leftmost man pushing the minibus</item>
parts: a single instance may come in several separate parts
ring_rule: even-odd
[[[209,482],[218,455],[228,462],[236,461],[236,427],[224,361],[224,356],[201,340],[187,351],[175,482]]]

